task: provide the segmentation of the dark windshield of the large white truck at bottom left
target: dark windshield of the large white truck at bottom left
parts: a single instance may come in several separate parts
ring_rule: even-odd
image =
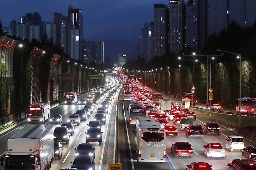
[[[4,166],[6,169],[35,169],[35,158],[31,158],[30,155],[9,155]]]

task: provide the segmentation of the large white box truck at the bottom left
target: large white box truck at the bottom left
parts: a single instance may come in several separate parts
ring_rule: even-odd
[[[26,125],[7,140],[4,170],[49,170],[54,156],[53,125]]]

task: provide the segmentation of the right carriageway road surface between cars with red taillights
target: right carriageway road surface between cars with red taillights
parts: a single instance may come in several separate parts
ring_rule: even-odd
[[[170,99],[165,96],[165,99]],[[177,101],[178,102],[178,101]],[[221,128],[221,135],[204,135],[204,138],[188,138],[186,137],[186,131],[180,130],[179,125],[175,125],[178,129],[177,137],[167,137],[167,162],[166,163],[141,163],[137,162],[137,155],[135,154],[135,135],[133,134],[133,127],[128,123],[128,113],[126,108],[132,102],[122,101],[122,95],[119,97],[118,102],[118,154],[117,160],[119,160],[123,164],[124,170],[153,170],[153,169],[172,169],[172,170],[182,170],[186,168],[186,165],[191,162],[208,162],[212,165],[213,170],[224,170],[227,169],[227,163],[230,163],[233,159],[241,158],[241,151],[232,151],[229,152],[226,150],[226,158],[206,158],[206,156],[202,153],[203,145],[216,142],[220,143],[225,147],[225,139],[227,139],[228,135],[234,135],[232,132]],[[197,117],[194,124],[204,125],[209,122],[204,118]],[[170,125],[174,125],[172,121],[169,121]],[[193,158],[187,157],[173,157],[171,153],[171,145],[175,142],[179,141],[187,141],[189,142],[194,150]],[[246,141],[244,142],[245,147],[251,145],[253,143]],[[124,152],[125,151],[125,152]],[[125,153],[125,154],[124,154]]]

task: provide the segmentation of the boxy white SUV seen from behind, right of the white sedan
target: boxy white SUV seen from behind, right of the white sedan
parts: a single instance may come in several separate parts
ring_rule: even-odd
[[[237,135],[228,136],[228,139],[226,139],[226,149],[228,149],[230,152],[233,150],[243,150],[244,138]]]

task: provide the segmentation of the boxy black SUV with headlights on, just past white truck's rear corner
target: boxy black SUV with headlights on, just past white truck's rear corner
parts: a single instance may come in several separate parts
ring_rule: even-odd
[[[69,142],[69,132],[66,126],[56,127],[53,132],[54,142]]]

